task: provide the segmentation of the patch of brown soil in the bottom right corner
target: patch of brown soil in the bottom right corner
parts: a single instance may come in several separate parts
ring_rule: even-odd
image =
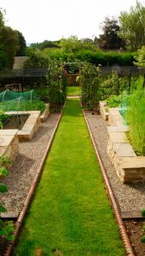
[[[145,236],[143,232],[143,225],[145,225],[145,220],[143,219],[126,219],[124,220],[126,231],[130,237],[131,245],[136,256],[145,255],[145,243],[140,241],[142,236]]]

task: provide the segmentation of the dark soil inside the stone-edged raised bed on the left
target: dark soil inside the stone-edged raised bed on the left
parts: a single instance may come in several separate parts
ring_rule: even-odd
[[[26,123],[29,114],[18,114],[18,115],[9,115],[9,118],[5,120],[3,129],[18,129],[21,130],[23,125]]]

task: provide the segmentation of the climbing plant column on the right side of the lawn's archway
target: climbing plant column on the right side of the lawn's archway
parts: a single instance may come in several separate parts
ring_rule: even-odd
[[[99,75],[100,67],[92,66],[90,63],[84,63],[80,68],[81,101],[82,105],[88,109],[96,108],[96,104],[99,102]]]

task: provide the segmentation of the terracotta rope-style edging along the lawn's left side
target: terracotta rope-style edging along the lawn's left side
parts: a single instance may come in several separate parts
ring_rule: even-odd
[[[67,102],[67,101],[66,101]],[[64,104],[64,107],[62,108],[62,110],[65,108],[66,106],[66,102]],[[14,249],[14,245],[16,243],[16,239],[20,233],[20,229],[21,229],[21,226],[22,226],[22,223],[23,223],[23,220],[24,218],[26,217],[26,212],[28,210],[28,207],[30,206],[30,203],[32,201],[32,196],[34,195],[34,192],[37,188],[37,185],[38,185],[38,181],[39,181],[39,178],[41,177],[41,174],[42,174],[42,171],[43,171],[43,166],[44,166],[44,161],[46,160],[46,157],[49,153],[49,150],[51,148],[51,145],[53,143],[53,140],[55,138],[55,132],[57,131],[57,128],[60,124],[60,121],[61,121],[61,117],[62,117],[62,111],[61,111],[61,114],[60,114],[60,117],[55,125],[55,129],[50,137],[50,140],[49,140],[49,144],[44,152],[44,157],[43,159],[41,160],[41,163],[40,163],[40,166],[38,167],[38,172],[36,173],[36,176],[34,177],[34,180],[32,182],[32,185],[31,185],[31,188],[29,189],[29,192],[28,192],[28,195],[26,197],[26,201],[24,202],[24,206],[20,212],[20,215],[19,215],[19,218],[17,219],[16,221],[16,224],[15,224],[15,229],[14,229],[14,241],[12,241],[12,243],[9,245],[8,249],[7,249],[7,252],[4,254],[4,256],[10,256],[12,255],[11,253],[13,252],[13,249]]]

